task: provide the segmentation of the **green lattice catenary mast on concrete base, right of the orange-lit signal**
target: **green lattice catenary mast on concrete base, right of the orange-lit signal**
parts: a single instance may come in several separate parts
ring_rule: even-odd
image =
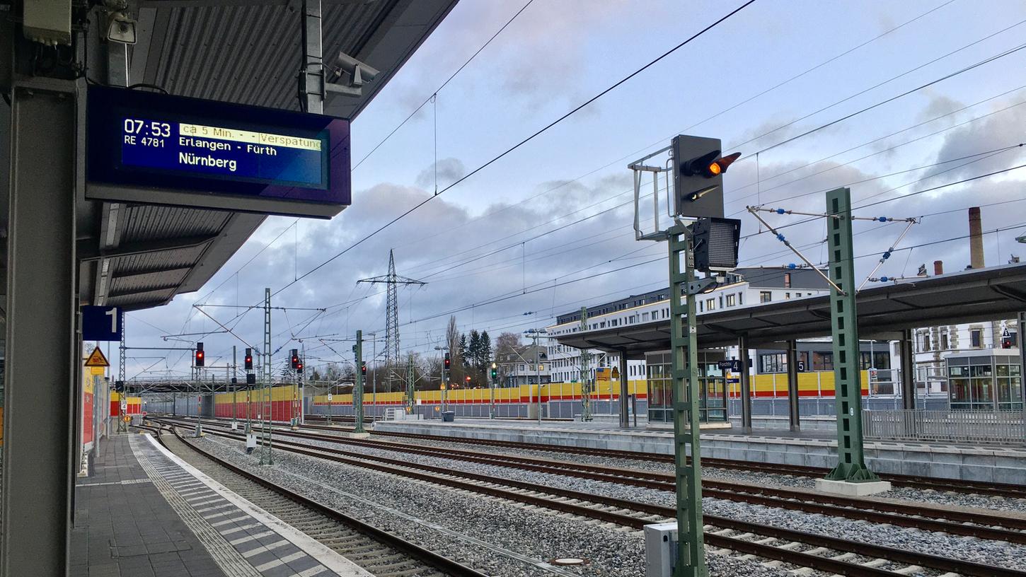
[[[833,334],[834,396],[837,406],[837,466],[831,481],[869,482],[879,478],[866,467],[862,446],[862,383],[859,373],[859,326],[855,308],[855,256],[852,246],[852,194],[835,189],[827,197],[827,251],[830,280],[830,328]]]

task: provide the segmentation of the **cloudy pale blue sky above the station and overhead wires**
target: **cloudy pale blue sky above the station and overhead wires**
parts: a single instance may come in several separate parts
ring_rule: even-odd
[[[627,165],[676,134],[742,153],[724,200],[742,220],[744,266],[799,262],[747,206],[819,213],[837,187],[851,188],[857,215],[921,217],[877,277],[932,272],[934,260],[964,269],[971,206],[985,232],[999,230],[985,235],[987,265],[1026,256],[1015,242],[1026,232],[1026,168],[952,184],[1026,164],[1026,4],[756,0],[293,283],[743,2],[532,0],[438,90],[525,3],[457,4],[353,121],[352,206],[329,221],[268,218],[207,286],[128,314],[128,346],[190,346],[200,337],[187,333],[200,333],[208,365],[230,362],[233,345],[241,363],[243,347],[263,342],[262,312],[245,306],[270,287],[285,308],[272,315],[276,362],[289,348],[308,367],[349,361],[357,329],[365,357],[381,357],[384,286],[356,281],[386,274],[390,250],[399,275],[426,283],[400,288],[398,301],[401,348],[427,356],[440,355],[449,315],[495,339],[665,287],[665,244],[634,239]],[[857,276],[904,229],[856,222]],[[824,231],[822,218],[781,229],[815,263]],[[126,361],[128,378],[189,374],[187,352],[130,351]]]

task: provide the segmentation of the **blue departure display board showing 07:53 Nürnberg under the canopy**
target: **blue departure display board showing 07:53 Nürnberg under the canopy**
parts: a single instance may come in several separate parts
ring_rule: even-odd
[[[350,203],[349,121],[90,86],[86,197],[329,217]]]

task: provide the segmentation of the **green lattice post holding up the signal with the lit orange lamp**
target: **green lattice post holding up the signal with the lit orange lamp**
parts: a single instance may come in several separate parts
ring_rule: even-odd
[[[699,426],[699,352],[695,298],[680,295],[695,282],[689,232],[667,231],[670,241],[670,346],[673,355],[673,447],[677,482],[677,565],[674,577],[706,577],[702,535],[702,451]],[[683,272],[681,272],[683,259]],[[686,323],[684,322],[686,317]],[[684,333],[686,324],[687,332]],[[690,453],[690,458],[687,454]]]

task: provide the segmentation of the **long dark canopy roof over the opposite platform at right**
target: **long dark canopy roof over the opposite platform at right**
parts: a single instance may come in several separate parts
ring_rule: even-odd
[[[753,347],[829,337],[829,298],[807,296],[699,315],[699,346],[735,345],[741,335],[748,335]],[[1026,263],[872,286],[859,292],[856,306],[861,338],[897,339],[906,329],[1012,318],[1026,311]],[[554,338],[576,348],[626,352],[630,359],[643,359],[645,353],[670,348],[670,320]]]

